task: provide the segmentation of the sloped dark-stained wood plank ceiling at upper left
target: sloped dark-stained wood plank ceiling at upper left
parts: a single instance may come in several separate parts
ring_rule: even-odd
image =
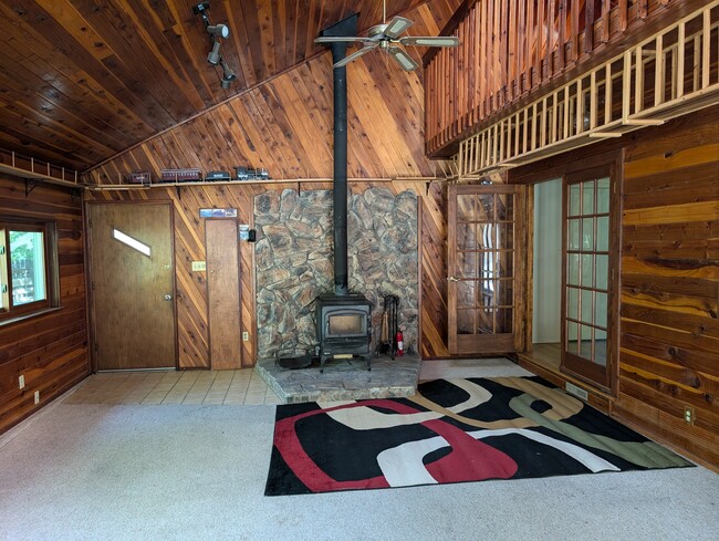
[[[314,38],[351,13],[361,32],[383,18],[379,0],[213,0],[237,73],[222,90],[197,3],[0,0],[0,148],[87,169],[321,54]],[[425,3],[461,2],[388,0],[387,17]]]

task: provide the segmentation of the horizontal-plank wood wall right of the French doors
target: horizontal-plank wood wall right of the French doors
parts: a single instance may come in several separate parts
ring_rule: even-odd
[[[719,107],[627,146],[614,414],[719,466]],[[644,135],[644,134],[642,134]],[[694,425],[684,420],[694,408]]]

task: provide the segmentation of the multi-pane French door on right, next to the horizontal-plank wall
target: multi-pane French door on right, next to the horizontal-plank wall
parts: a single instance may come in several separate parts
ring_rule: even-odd
[[[606,389],[618,318],[614,193],[609,166],[565,177],[561,370]]]

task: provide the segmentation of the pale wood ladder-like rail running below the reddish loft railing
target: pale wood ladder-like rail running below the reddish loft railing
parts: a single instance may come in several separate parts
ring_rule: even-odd
[[[719,103],[719,0],[459,145],[458,177],[524,165]]]

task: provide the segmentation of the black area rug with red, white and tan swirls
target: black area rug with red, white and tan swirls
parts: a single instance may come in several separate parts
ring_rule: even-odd
[[[540,377],[277,408],[265,496],[691,466]]]

